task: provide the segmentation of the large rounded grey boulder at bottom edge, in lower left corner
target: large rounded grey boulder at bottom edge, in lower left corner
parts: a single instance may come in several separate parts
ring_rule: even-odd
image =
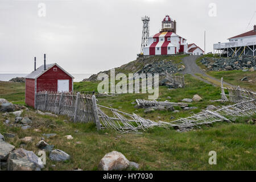
[[[10,152],[7,163],[7,169],[9,171],[23,169],[28,171],[39,171],[44,167],[42,160],[37,155],[35,155],[34,152],[24,150],[23,148],[19,148],[13,152]]]

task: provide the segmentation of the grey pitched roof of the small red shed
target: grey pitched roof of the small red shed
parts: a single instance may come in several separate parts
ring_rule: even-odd
[[[39,76],[43,75],[43,73],[47,72],[49,69],[51,69],[54,65],[56,65],[57,67],[59,67],[62,71],[64,71],[65,73],[67,73],[67,75],[69,75],[70,77],[74,78],[72,75],[70,75],[67,71],[65,71],[63,68],[61,68],[57,63],[52,63],[52,64],[46,64],[46,70],[44,70],[44,65],[41,65],[38,69],[36,69],[35,71],[31,72],[30,74],[28,74],[25,78],[33,78],[36,79]]]

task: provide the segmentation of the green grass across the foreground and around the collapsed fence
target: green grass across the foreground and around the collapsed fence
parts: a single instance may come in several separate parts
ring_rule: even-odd
[[[97,91],[98,82],[75,82],[74,90]],[[209,104],[221,105],[210,100],[220,99],[220,88],[205,84],[190,75],[185,75],[185,88],[168,90],[165,86],[159,88],[159,101],[171,97],[171,102],[179,102],[183,98],[192,98],[199,94],[203,101],[192,102],[191,106],[199,109],[183,111],[179,107],[179,113],[168,111],[154,111],[144,114],[143,109],[135,109],[136,98],[147,99],[148,94],[121,94],[115,97],[98,97],[98,104],[112,106],[127,113],[137,113],[141,117],[153,121],[171,121],[175,118],[188,117],[199,112]],[[5,82],[1,83],[2,98],[13,102],[24,102],[24,84]],[[6,94],[8,93],[8,94]],[[15,95],[12,95],[14,93]],[[20,96],[16,97],[16,93]],[[21,94],[23,93],[23,94]],[[31,136],[32,142],[25,144],[26,150],[38,154],[36,143],[43,137],[43,133],[56,133],[53,138],[46,138],[48,144],[63,150],[71,155],[71,159],[65,162],[52,162],[46,159],[46,167],[43,170],[97,170],[100,159],[113,150],[122,152],[130,161],[140,164],[139,170],[254,170],[255,164],[255,125],[247,123],[252,117],[238,118],[234,123],[214,123],[212,126],[203,126],[201,129],[178,133],[172,129],[155,127],[143,132],[143,134],[120,134],[114,130],[97,131],[93,123],[68,122],[66,116],[52,118],[36,114],[34,109],[23,111],[22,116],[30,117],[33,121],[32,128],[21,130],[20,127],[11,127],[2,121],[9,119],[14,123],[14,115],[7,118],[0,113],[0,133],[15,133],[14,138],[5,138],[6,142],[20,147],[21,138]],[[40,132],[34,131],[39,129]],[[75,131],[78,130],[76,133]],[[72,135],[73,140],[67,140],[65,135]],[[77,143],[77,142],[80,142]],[[217,165],[208,163],[209,151],[217,152]],[[55,167],[52,167],[55,164]]]

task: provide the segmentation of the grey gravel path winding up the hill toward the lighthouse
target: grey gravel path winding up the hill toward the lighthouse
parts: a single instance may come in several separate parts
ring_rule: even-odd
[[[189,75],[192,75],[193,77],[196,77],[197,79],[201,80],[201,81],[204,81],[206,82],[207,84],[212,84],[213,86],[217,86],[207,80],[204,80],[203,78],[199,77],[199,76],[196,76],[195,74],[196,73],[199,73],[201,75],[203,75],[204,77],[208,77],[212,80],[215,80],[215,81],[218,81],[218,82],[221,82],[220,80],[214,78],[214,77],[211,77],[207,74],[204,73],[204,71],[199,67],[197,66],[196,64],[196,60],[199,58],[200,56],[186,56],[182,59],[183,61],[183,64],[185,65],[185,69],[183,72],[181,72],[181,74],[189,74]],[[233,86],[227,82],[224,82],[224,84],[228,85],[228,86]]]

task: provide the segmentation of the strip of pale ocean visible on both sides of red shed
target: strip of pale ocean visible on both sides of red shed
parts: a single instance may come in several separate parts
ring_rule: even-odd
[[[84,78],[89,78],[93,73],[70,73],[74,78],[74,82],[79,82],[84,80]],[[25,77],[28,73],[0,73],[0,81],[9,81],[11,78]]]

